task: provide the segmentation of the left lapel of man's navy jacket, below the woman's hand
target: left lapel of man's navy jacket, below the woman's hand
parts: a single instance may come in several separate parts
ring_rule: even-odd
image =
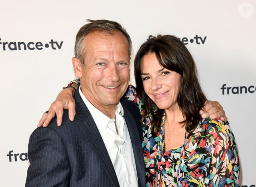
[[[79,125],[81,131],[83,132],[87,141],[91,144],[94,152],[97,154],[99,162],[102,164],[103,169],[106,174],[109,176],[109,179],[112,181],[115,187],[119,187],[117,180],[117,175],[113,167],[112,161],[109,157],[108,151],[103,142],[102,136],[98,131],[98,128],[93,120],[93,117],[90,114],[87,106],[83,102],[78,90],[75,92],[75,109],[76,117],[83,121]]]

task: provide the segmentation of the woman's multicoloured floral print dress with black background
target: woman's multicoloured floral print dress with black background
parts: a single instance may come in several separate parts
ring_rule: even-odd
[[[143,104],[132,85],[126,98],[143,114]],[[184,134],[184,145],[165,152],[164,119],[156,137],[151,136],[151,116],[142,123],[146,187],[238,186],[237,147],[228,124],[205,118],[193,132]]]

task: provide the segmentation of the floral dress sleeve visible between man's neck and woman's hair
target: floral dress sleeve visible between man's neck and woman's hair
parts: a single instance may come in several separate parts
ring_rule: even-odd
[[[137,95],[136,88],[131,84],[127,88],[125,99],[133,101],[138,106],[140,114],[144,114],[143,103]]]

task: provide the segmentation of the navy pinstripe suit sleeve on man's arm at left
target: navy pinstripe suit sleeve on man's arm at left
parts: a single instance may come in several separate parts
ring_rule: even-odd
[[[26,187],[67,187],[70,165],[64,143],[50,127],[37,128],[28,145]]]

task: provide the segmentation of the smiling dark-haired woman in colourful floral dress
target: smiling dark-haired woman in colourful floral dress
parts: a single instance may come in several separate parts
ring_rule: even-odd
[[[200,116],[206,97],[184,44],[151,37],[137,52],[135,77],[137,91],[129,86],[126,97],[142,114],[146,186],[237,186],[233,133],[225,122]]]

